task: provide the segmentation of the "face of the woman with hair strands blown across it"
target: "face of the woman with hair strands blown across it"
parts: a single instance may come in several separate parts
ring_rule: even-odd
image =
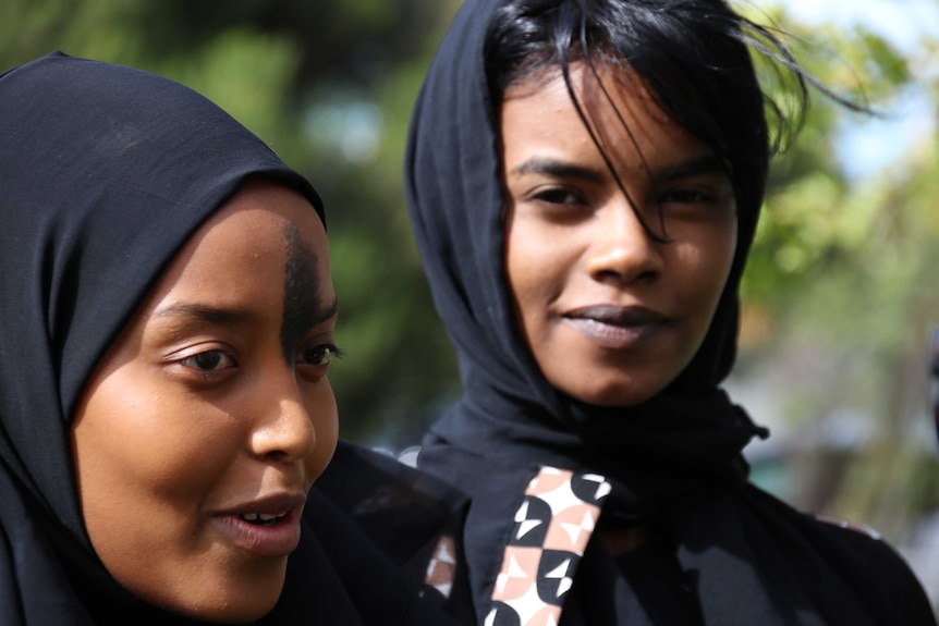
[[[733,188],[707,146],[629,72],[574,65],[511,86],[501,110],[505,266],[516,318],[548,381],[583,402],[642,403],[707,333],[736,245]],[[605,88],[612,103],[603,96]],[[668,243],[650,237],[664,220]]]

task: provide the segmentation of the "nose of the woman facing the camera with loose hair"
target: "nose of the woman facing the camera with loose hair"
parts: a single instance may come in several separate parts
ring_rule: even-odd
[[[595,213],[590,236],[586,267],[594,280],[631,284],[661,274],[663,244],[649,234],[625,197]]]

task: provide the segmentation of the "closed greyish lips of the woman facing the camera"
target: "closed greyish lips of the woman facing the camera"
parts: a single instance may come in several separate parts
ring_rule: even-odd
[[[643,307],[593,305],[568,311],[564,322],[608,349],[629,349],[655,336],[672,320]]]

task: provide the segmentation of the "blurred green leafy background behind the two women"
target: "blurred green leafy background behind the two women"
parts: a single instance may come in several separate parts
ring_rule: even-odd
[[[342,435],[400,450],[459,393],[402,191],[411,106],[458,4],[3,0],[0,71],[58,49],[163,74],[309,176],[326,201],[342,303],[346,356],[330,375]],[[737,7],[792,34],[824,84],[879,112],[850,113],[816,93],[798,140],[775,163],[728,381],[772,431],[746,450],[754,480],[798,507],[877,529],[939,604],[929,395],[939,0]]]

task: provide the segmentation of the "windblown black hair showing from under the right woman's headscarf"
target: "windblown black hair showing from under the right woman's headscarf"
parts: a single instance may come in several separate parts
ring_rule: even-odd
[[[785,111],[763,89],[751,50],[775,61],[781,79],[791,77],[785,84],[794,105]],[[756,228],[770,159],[801,126],[807,84],[815,83],[775,32],[724,0],[507,0],[489,23],[485,59],[497,109],[510,85],[559,69],[592,135],[571,85],[571,64],[582,61],[594,73],[601,66],[632,70],[656,103],[727,165],[743,251]],[[623,187],[596,136],[594,143]],[[667,238],[643,225],[653,237]]]

